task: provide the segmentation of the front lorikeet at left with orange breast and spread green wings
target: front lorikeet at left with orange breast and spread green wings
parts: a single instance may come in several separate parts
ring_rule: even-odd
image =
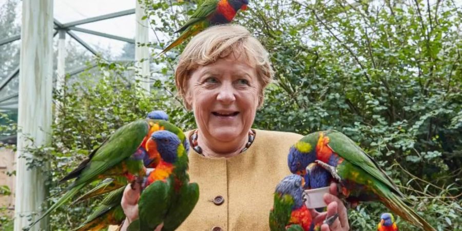
[[[189,183],[188,156],[183,142],[169,131],[152,133],[147,149],[156,147],[161,160],[147,177],[138,201],[139,219],[128,230],[175,230],[189,216],[199,199],[199,186]]]

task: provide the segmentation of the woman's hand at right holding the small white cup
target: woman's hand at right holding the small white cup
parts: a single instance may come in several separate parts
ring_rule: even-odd
[[[326,218],[338,215],[334,222],[329,224],[322,224],[321,231],[348,231],[350,230],[350,224],[348,223],[347,208],[343,205],[337,197],[337,184],[332,183],[329,189],[329,194],[324,194],[324,202],[328,205],[327,211],[318,213],[315,209],[312,209],[313,222],[315,224],[322,223]]]

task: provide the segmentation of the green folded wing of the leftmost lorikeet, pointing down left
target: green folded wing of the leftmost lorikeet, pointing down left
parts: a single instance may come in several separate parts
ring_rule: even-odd
[[[73,185],[91,181],[111,167],[130,157],[143,142],[148,133],[146,120],[131,122],[115,131],[105,143],[91,155],[85,168],[80,170],[79,177]]]

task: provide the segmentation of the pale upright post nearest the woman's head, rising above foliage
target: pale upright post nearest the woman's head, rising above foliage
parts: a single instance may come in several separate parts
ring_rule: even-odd
[[[136,80],[140,81],[140,91],[149,93],[151,72],[149,69],[149,47],[138,46],[138,44],[145,44],[149,42],[149,19],[142,20],[144,14],[143,4],[140,0],[136,1],[135,15],[136,15],[136,27],[135,27],[135,67],[138,71]],[[143,60],[142,62],[140,62]]]

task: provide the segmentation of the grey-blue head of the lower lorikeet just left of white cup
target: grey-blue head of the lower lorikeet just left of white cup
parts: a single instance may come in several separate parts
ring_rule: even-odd
[[[289,175],[282,179],[276,186],[275,193],[280,195],[291,195],[294,198],[292,210],[298,209],[303,205],[303,178],[298,175]]]

